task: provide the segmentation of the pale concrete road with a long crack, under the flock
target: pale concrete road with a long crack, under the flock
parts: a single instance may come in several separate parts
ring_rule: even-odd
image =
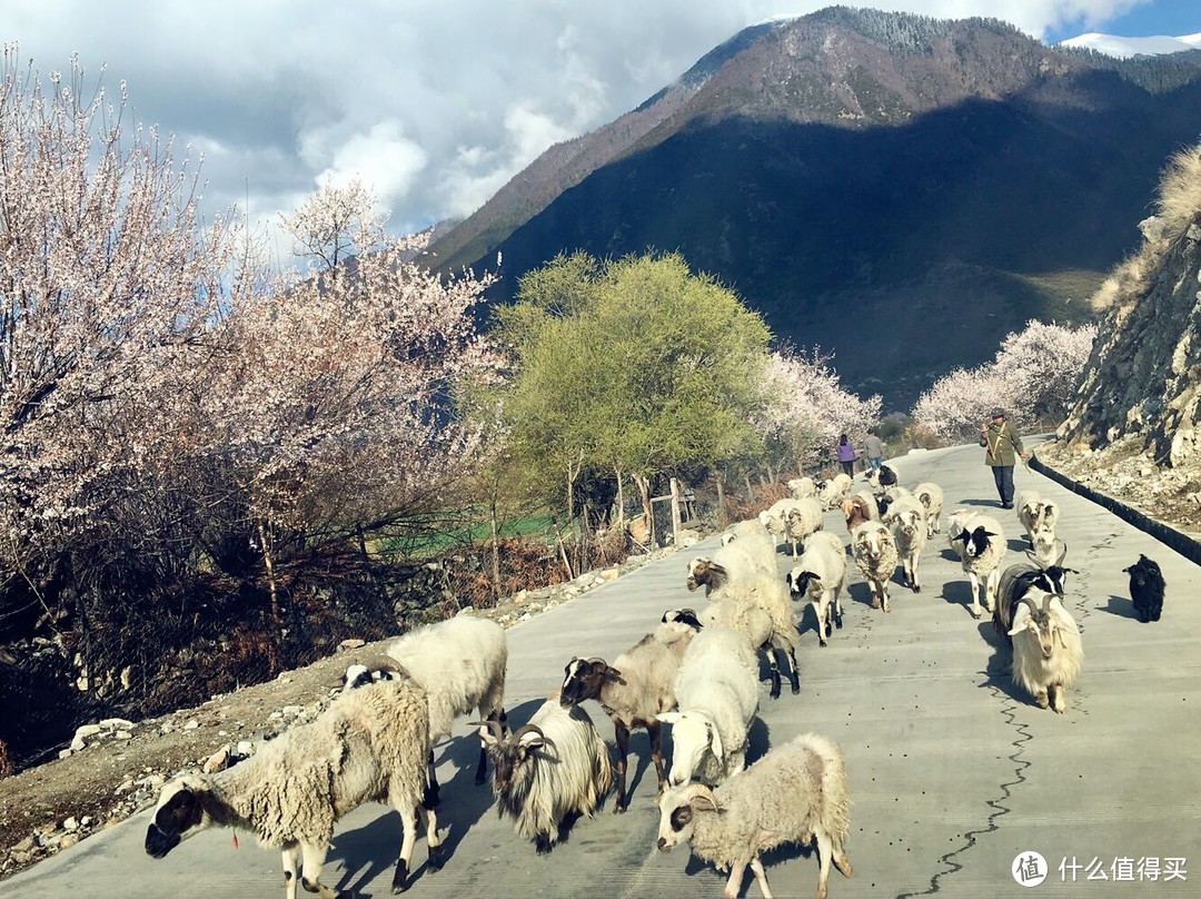
[[[1011,550],[1023,541],[1012,512],[996,508],[992,478],[975,447],[895,460],[902,483],[940,483],[948,508],[991,507]],[[892,612],[868,606],[854,573],[846,627],[819,649],[812,621],[802,627],[801,693],[767,697],[753,730],[753,756],[769,744],[814,730],[836,739],[847,757],[853,799],[848,853],[854,877],[832,873],[830,895],[1185,897],[1201,895],[1201,572],[1147,535],[1053,482],[1020,470],[1018,489],[1056,499],[1070,582],[1070,611],[1083,631],[1083,674],[1059,716],[1034,707],[1008,675],[1008,648],[991,624],[966,608],[967,581],[943,537],[922,559],[925,590],[892,585]],[[846,535],[837,513],[826,528]],[[573,654],[614,657],[650,630],[665,608],[704,600],[683,587],[687,558],[646,566],[509,632],[508,697],[520,724],[555,690]],[[1143,552],[1169,584],[1164,619],[1141,625],[1121,570]],[[789,560],[781,555],[779,570]],[[787,681],[785,681],[787,683]],[[588,710],[602,733],[613,728]],[[458,733],[468,728],[460,722]],[[677,847],[652,850],[658,824],[653,769],[645,736],[633,740],[634,797],[626,815],[611,800],[578,822],[549,857],[498,821],[486,788],[472,784],[470,739],[441,748],[446,868],[418,868],[413,897],[717,897],[724,877]],[[263,897],[282,892],[280,857],[241,834],[202,834],[163,861],[142,850],[147,815],[42,862],[2,885],[6,897],[114,895]],[[360,895],[389,894],[399,818],[382,806],[345,818],[323,880]],[[424,858],[424,840],[414,861]],[[1040,853],[1050,869],[1032,893],[1011,869]],[[1172,861],[1183,859],[1183,861]],[[1158,879],[1151,880],[1152,862]],[[778,897],[812,895],[817,861],[779,851],[766,859]],[[1078,865],[1075,867],[1074,865]],[[1183,869],[1184,879],[1173,876]],[[1046,871],[1045,871],[1046,873]],[[1106,880],[1099,880],[1101,876]],[[758,893],[749,873],[743,892]]]

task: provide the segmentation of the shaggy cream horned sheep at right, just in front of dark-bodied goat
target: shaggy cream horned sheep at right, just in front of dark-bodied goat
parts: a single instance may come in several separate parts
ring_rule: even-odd
[[[1014,608],[1014,683],[1034,696],[1039,708],[1063,714],[1068,687],[1085,660],[1076,620],[1051,593],[1032,588]]]

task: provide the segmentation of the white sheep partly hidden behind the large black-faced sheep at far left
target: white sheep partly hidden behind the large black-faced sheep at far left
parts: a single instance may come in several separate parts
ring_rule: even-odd
[[[504,629],[486,618],[460,613],[444,621],[416,627],[393,641],[388,656],[425,687],[430,703],[430,743],[450,736],[455,718],[472,709],[484,720],[504,720],[504,671],[509,650]],[[476,763],[476,782],[486,778],[483,749]],[[430,788],[435,800],[438,782],[430,755]]]

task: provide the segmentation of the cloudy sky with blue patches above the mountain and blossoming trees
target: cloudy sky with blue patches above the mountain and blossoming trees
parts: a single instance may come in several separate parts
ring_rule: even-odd
[[[124,85],[127,121],[204,154],[209,210],[268,227],[359,177],[400,233],[470,214],[741,29],[835,1],[1048,42],[1201,31],[1201,0],[0,0],[0,40],[43,79],[78,54]]]

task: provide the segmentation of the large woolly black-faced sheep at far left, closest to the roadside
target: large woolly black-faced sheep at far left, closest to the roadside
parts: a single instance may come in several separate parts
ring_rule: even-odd
[[[264,743],[246,761],[217,774],[169,781],[147,828],[145,850],[162,858],[209,827],[237,827],[283,852],[283,891],[301,885],[322,899],[337,893],[321,882],[334,823],[365,802],[400,814],[404,841],[392,889],[406,886],[420,809],[431,869],[442,867],[437,817],[428,792],[429,705],[406,677],[342,692],[311,724]]]

